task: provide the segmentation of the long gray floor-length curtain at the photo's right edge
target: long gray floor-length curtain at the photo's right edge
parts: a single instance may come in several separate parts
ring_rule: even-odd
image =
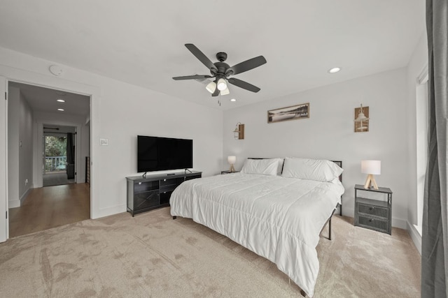
[[[448,1],[426,0],[429,140],[423,202],[421,297],[448,297]]]

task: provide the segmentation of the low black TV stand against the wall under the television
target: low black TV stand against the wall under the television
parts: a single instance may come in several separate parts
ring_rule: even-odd
[[[202,172],[175,172],[148,174],[146,177],[126,177],[127,211],[134,216],[141,212],[169,206],[169,197],[174,188],[183,181],[202,177]]]

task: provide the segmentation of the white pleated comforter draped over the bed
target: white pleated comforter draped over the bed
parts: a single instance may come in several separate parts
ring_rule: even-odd
[[[339,181],[235,173],[186,181],[169,202],[172,216],[193,218],[274,262],[312,297],[319,233],[342,193]]]

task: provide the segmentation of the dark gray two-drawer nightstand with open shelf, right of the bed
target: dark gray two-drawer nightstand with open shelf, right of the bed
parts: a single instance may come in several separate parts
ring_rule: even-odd
[[[367,192],[367,193],[365,193]],[[365,198],[382,197],[384,200]],[[355,225],[378,232],[392,234],[392,191],[391,188],[364,188],[355,185]]]

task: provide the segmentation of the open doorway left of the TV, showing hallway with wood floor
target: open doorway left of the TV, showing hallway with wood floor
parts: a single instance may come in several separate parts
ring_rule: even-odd
[[[88,156],[90,96],[8,82],[10,237],[90,218]]]

